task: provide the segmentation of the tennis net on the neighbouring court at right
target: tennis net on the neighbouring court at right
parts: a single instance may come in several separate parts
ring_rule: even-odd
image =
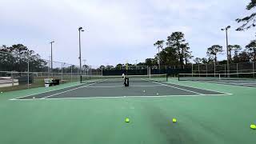
[[[235,74],[178,74],[179,81],[255,81],[256,73]]]

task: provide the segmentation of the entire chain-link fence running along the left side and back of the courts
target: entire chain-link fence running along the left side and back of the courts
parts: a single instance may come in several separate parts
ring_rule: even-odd
[[[46,78],[59,79],[60,83],[78,82],[80,75],[131,75],[148,74],[234,74],[255,72],[255,62],[226,64],[188,64],[183,66],[79,66],[66,62],[50,62],[37,54],[0,51],[0,91],[22,90],[44,86]]]

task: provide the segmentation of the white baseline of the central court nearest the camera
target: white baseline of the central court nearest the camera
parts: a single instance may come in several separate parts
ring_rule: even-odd
[[[33,100],[60,100],[60,99],[98,99],[98,98],[168,98],[168,97],[205,97],[205,96],[223,96],[229,94],[192,94],[192,95],[159,95],[159,96],[117,96],[117,97],[85,97],[85,98],[35,98],[35,99],[14,99],[14,101],[33,101]]]

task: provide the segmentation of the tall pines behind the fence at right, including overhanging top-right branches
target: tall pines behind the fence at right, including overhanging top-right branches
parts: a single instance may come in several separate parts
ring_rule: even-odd
[[[256,1],[251,0],[246,6],[246,10],[253,10],[256,7]],[[242,23],[238,27],[238,31],[248,30],[256,26],[256,13],[252,13],[244,18],[237,18],[236,22]],[[166,43],[163,40],[158,40],[154,43],[159,50],[159,55],[154,58],[146,58],[145,62],[140,62],[142,66],[157,66],[159,62],[162,66],[183,66],[190,64],[190,60],[194,58],[191,54],[189,43],[186,42],[182,32],[174,32],[166,38]],[[164,47],[165,46],[165,47]],[[228,58],[230,62],[256,62],[256,39],[251,40],[244,48],[239,45],[229,45],[227,47]],[[194,58],[194,63],[226,63],[226,60],[218,61],[218,54],[223,54],[223,46],[213,45],[207,48],[206,58]]]

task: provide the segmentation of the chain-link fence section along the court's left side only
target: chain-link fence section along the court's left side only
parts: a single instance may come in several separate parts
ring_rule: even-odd
[[[80,81],[83,70],[66,62],[50,62],[36,54],[0,51],[0,91],[22,90],[45,86],[47,78],[60,84]]]

